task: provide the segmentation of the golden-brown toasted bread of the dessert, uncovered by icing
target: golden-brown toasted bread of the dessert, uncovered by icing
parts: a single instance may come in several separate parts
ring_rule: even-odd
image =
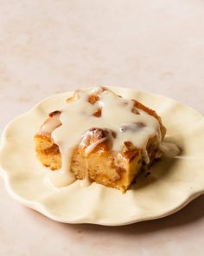
[[[97,94],[90,95],[88,101],[94,104],[99,100],[99,94],[103,92],[102,88]],[[76,101],[80,97],[76,92],[72,98],[67,99],[67,103]],[[137,108],[142,109],[149,115],[154,116],[160,124],[162,140],[166,134],[161,118],[150,108],[145,107],[140,102],[134,101],[134,108],[131,110],[137,115]],[[93,114],[95,117],[100,117],[101,108]],[[61,152],[58,145],[54,143],[52,138],[52,131],[59,127],[60,112],[55,111],[49,115],[48,120],[44,125],[53,122],[52,128],[46,132],[40,132],[35,135],[35,151],[41,164],[49,167],[51,170],[59,170],[61,168]],[[55,119],[55,121],[54,121]],[[136,124],[141,126],[143,124]],[[42,126],[43,127],[43,126]],[[126,127],[122,127],[126,128]],[[53,129],[53,130],[52,130]],[[136,180],[137,174],[142,170],[148,169],[152,162],[161,157],[162,153],[158,148],[158,139],[156,136],[149,139],[146,152],[149,161],[143,158],[143,149],[136,148],[131,141],[124,141],[121,152],[114,152],[112,150],[112,138],[114,132],[107,128],[90,128],[86,132],[86,143],[79,143],[73,148],[72,161],[70,171],[75,175],[76,179],[83,180],[88,171],[90,181],[95,181],[103,184],[106,187],[114,187],[120,189],[123,193],[126,192],[131,183]],[[104,141],[101,139],[105,139]],[[96,145],[90,153],[87,154],[87,148],[101,141]]]

